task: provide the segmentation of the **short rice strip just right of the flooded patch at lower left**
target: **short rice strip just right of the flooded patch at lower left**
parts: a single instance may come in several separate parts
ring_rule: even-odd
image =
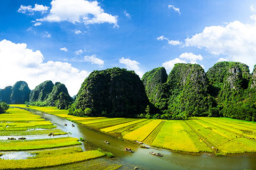
[[[30,154],[35,155],[34,157],[30,157],[30,158],[42,158],[42,157],[49,157],[49,156],[66,155],[66,154],[73,154],[73,153],[82,152],[82,151],[83,149],[81,147],[42,150],[42,151],[30,152]]]

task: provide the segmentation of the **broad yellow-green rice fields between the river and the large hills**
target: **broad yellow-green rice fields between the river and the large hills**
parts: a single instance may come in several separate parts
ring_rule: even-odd
[[[10,106],[26,109],[25,105]],[[131,118],[126,122],[127,118],[70,117],[67,110],[58,110],[56,107],[29,106],[28,108],[60,115],[122,140],[130,142],[138,140],[153,147],[175,152],[188,154],[206,152],[217,156],[256,152],[255,122],[225,117],[191,117],[187,121]]]

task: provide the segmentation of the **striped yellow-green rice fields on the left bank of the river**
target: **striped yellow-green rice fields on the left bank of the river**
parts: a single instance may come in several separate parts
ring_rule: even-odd
[[[43,109],[51,110],[52,113],[65,118],[77,118],[67,115],[66,111],[59,112],[51,107]],[[10,108],[5,114],[0,114],[0,135],[6,137],[5,140],[0,140],[0,169],[58,168],[61,165],[69,167],[67,166],[68,164],[74,163],[77,163],[75,164],[77,167],[83,167],[83,164],[86,165],[85,167],[89,167],[87,162],[90,162],[91,159],[105,156],[105,153],[98,150],[83,151],[81,148],[82,143],[77,138],[71,137],[7,140],[7,137],[10,136],[17,138],[15,135],[26,135],[26,137],[29,135],[47,136],[49,133],[54,133],[54,135],[67,134],[60,129],[56,129],[56,126],[50,121],[45,121],[40,116],[24,109]],[[5,151],[26,151],[32,156],[20,160],[1,159],[1,156],[5,155]],[[105,165],[94,164],[94,167],[97,166],[104,167]],[[121,165],[109,164],[105,168],[118,169],[119,167]],[[60,169],[63,169],[63,167]]]

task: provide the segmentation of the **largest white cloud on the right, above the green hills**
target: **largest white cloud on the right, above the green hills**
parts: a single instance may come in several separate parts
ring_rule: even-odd
[[[230,22],[226,26],[205,27],[185,40],[186,46],[205,48],[213,55],[223,55],[228,61],[242,62],[252,71],[256,56],[256,25]]]

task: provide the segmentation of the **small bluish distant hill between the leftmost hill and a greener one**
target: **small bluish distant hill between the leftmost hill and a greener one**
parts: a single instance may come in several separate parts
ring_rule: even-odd
[[[54,84],[52,81],[47,80],[30,92],[29,101],[44,101],[47,99],[49,94],[52,92]]]

